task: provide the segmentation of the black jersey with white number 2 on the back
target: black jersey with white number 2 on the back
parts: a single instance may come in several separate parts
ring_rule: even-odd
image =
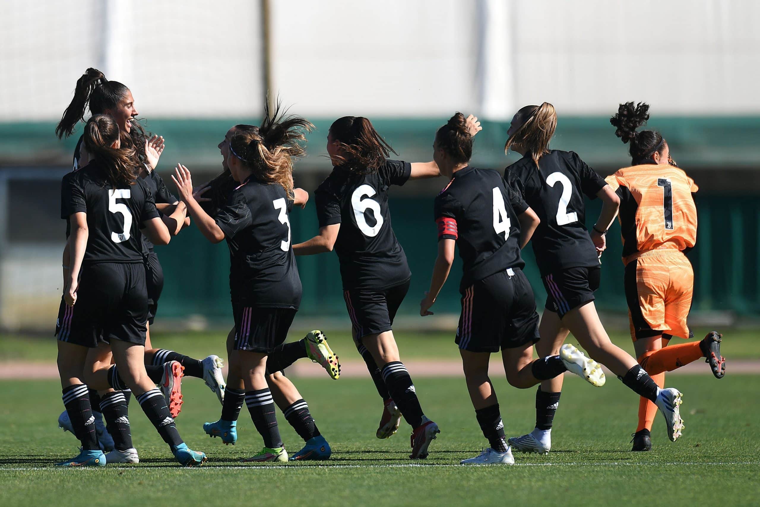
[[[606,182],[572,151],[549,151],[539,166],[537,170],[527,154],[507,167],[505,179],[541,219],[531,239],[541,276],[565,268],[598,266],[585,225],[583,194],[596,198]]]

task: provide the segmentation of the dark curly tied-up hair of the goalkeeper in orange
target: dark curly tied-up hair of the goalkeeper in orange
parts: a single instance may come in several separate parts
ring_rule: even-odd
[[[641,163],[651,163],[652,155],[661,152],[665,147],[665,140],[659,132],[654,130],[636,129],[645,125],[649,119],[649,104],[626,102],[620,104],[618,112],[610,118],[610,124],[615,127],[615,135],[622,142],[630,143],[628,153],[631,155],[631,164],[636,166]]]

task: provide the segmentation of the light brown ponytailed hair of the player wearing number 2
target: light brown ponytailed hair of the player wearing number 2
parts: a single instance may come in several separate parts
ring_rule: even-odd
[[[549,153],[549,141],[557,128],[557,113],[548,102],[540,106],[525,106],[512,119],[512,122],[521,121],[522,125],[509,136],[504,151],[506,153],[510,147],[518,147],[529,153],[538,166],[540,158]]]

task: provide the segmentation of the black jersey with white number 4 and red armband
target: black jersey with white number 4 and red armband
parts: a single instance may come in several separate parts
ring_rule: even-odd
[[[463,261],[461,293],[508,268],[523,268],[518,214],[525,201],[492,169],[465,167],[435,198],[440,239],[456,239]]]

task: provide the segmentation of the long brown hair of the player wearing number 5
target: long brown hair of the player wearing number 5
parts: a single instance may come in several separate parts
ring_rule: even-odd
[[[121,138],[119,148],[111,145]],[[135,163],[137,156],[131,139],[119,132],[119,125],[109,115],[95,115],[84,125],[84,146],[98,165],[103,167],[103,176],[113,189],[135,183]]]

